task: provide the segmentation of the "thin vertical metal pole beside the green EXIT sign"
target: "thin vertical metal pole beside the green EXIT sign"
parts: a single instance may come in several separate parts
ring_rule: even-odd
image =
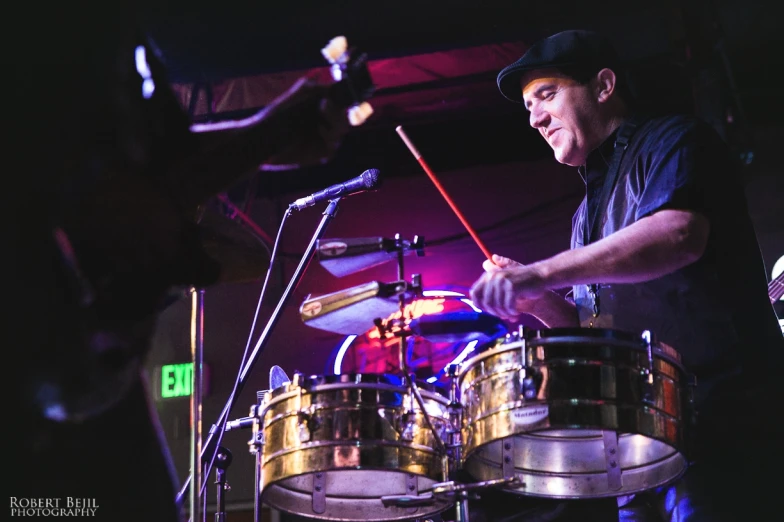
[[[201,460],[202,441],[202,390],[204,363],[204,290],[191,288],[191,477],[194,487],[190,489],[190,520],[202,519],[202,504],[199,492],[204,480]]]

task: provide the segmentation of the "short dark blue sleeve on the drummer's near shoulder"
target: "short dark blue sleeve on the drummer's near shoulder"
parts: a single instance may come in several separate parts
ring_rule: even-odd
[[[722,183],[732,175],[718,133],[697,120],[677,118],[652,132],[648,143],[653,145],[640,158],[647,168],[635,219],[664,209],[711,214]]]

